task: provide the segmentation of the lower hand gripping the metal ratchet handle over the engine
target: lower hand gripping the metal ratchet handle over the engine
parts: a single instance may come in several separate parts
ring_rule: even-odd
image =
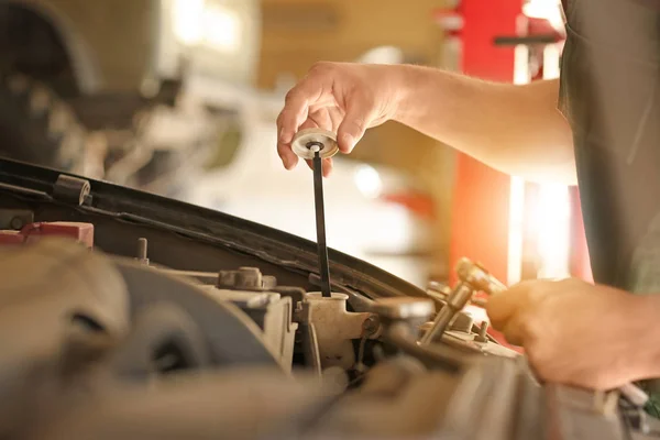
[[[491,297],[486,311],[540,380],[610,389],[649,377],[640,331],[657,320],[646,319],[644,299],[579,279],[532,280]]]

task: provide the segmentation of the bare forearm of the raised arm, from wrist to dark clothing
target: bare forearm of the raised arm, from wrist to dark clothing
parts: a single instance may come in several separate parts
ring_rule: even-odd
[[[559,81],[514,86],[417,66],[402,66],[398,77],[398,122],[504,173],[575,184]]]

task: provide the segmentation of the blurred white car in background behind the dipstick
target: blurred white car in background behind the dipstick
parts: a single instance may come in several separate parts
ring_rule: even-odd
[[[264,117],[263,103],[254,108],[244,112],[242,142],[229,165],[196,176],[186,198],[316,241],[312,173],[302,162],[294,170],[284,169],[274,114]],[[408,176],[336,156],[323,191],[330,248],[426,285],[430,222],[406,206],[408,196],[420,194]]]

